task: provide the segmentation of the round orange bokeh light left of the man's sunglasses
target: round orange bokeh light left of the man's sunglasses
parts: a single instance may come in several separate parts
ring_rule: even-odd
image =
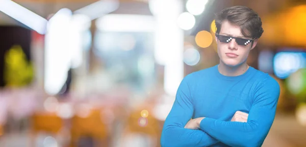
[[[210,32],[200,31],[195,36],[195,43],[202,48],[210,46],[212,42],[213,36]]]

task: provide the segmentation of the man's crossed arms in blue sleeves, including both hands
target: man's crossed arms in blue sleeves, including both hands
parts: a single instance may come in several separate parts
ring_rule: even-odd
[[[161,136],[163,147],[210,146],[217,142],[230,146],[262,145],[272,126],[279,96],[279,85],[274,79],[267,78],[255,91],[247,122],[238,122],[237,119],[221,121],[208,117],[190,120],[193,115],[190,87],[184,78],[165,120]],[[197,129],[193,128],[194,125]]]

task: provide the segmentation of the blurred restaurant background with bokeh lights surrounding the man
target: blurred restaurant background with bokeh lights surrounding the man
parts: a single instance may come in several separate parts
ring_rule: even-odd
[[[0,0],[0,146],[160,146],[181,80],[218,64],[214,14],[264,33],[248,64],[281,85],[263,146],[306,146],[303,0]]]

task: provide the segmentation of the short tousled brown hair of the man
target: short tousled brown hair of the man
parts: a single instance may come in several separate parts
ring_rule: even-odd
[[[224,20],[239,26],[242,35],[245,37],[258,39],[264,32],[258,13],[248,7],[233,6],[224,8],[220,13],[217,13],[215,18],[217,34],[220,33],[221,24]]]

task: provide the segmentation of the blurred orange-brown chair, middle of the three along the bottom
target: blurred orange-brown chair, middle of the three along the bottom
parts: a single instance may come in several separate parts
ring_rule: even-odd
[[[86,117],[80,117],[74,115],[71,119],[71,146],[80,145],[80,143],[87,138],[87,142],[97,141],[97,145],[94,146],[109,146],[110,136],[108,128],[101,116],[101,110],[91,109],[90,113]],[[82,143],[81,143],[82,144]],[[86,144],[85,146],[88,146]]]

